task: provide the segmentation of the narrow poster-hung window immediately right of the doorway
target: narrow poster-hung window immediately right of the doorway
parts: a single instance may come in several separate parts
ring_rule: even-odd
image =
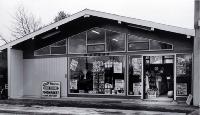
[[[176,55],[176,95],[187,96],[191,93],[192,55]]]

